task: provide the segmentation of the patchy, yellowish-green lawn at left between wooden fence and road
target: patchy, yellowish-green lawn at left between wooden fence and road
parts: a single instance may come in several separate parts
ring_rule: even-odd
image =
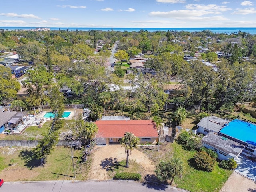
[[[5,174],[19,175],[17,178],[6,178],[6,181],[73,179],[74,172],[71,159],[71,150],[69,147],[56,147],[52,154],[48,156],[44,167],[38,166],[39,161],[31,158],[31,150],[33,148],[3,147],[1,149],[3,150],[1,150],[0,153],[0,176],[4,176]],[[78,164],[76,162],[80,160],[80,150],[74,150],[73,153],[76,179],[86,180],[90,171],[92,156],[88,156],[88,161],[85,163]],[[10,164],[11,159],[14,159],[14,165],[10,166],[9,168],[8,164]]]

